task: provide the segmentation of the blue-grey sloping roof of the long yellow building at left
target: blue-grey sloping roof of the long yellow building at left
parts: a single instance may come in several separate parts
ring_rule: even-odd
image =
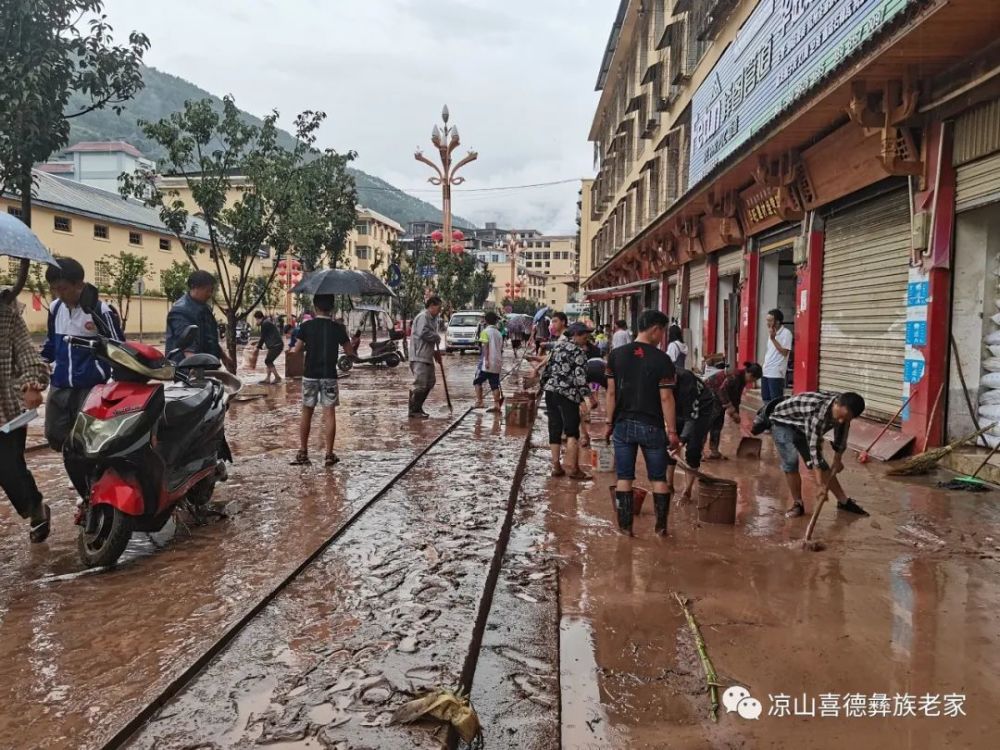
[[[119,224],[171,234],[160,221],[159,212],[140,201],[122,198],[117,193],[84,185],[80,182],[33,170],[37,205],[62,209],[67,213],[82,214],[95,219],[106,219]],[[188,232],[192,239],[208,241],[208,230],[202,222],[191,221]]]

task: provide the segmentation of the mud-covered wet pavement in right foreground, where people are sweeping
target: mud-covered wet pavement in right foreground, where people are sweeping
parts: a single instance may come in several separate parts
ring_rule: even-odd
[[[729,455],[735,437],[723,443]],[[843,483],[872,515],[828,503],[821,552],[798,545],[808,517],[782,515],[769,440],[760,462],[703,466],[738,482],[735,526],[700,523],[693,506],[675,505],[667,539],[653,534],[651,509],[628,538],[614,526],[613,475],[582,492],[553,484],[562,746],[996,747],[1000,491],[948,492],[935,478],[888,478],[853,454],[846,463]],[[805,492],[811,510],[808,481]],[[759,719],[724,707],[718,723],[709,719],[673,592],[690,600],[720,693],[745,686]],[[946,716],[958,703],[965,715]]]

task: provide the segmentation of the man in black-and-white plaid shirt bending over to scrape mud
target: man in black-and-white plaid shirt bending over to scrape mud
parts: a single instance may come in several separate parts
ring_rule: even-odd
[[[820,487],[829,478],[829,489],[837,498],[839,510],[868,515],[864,508],[847,497],[836,477],[844,468],[842,456],[847,450],[851,420],[860,417],[864,410],[865,400],[857,393],[811,391],[785,399],[771,412],[771,437],[792,493],[792,507],[786,516],[797,518],[805,513],[800,456],[806,466],[816,472],[816,483]],[[827,465],[823,458],[823,436],[830,430],[833,430],[833,466]]]

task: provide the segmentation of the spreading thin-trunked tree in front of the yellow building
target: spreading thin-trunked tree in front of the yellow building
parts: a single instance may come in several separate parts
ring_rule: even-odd
[[[322,112],[299,115],[296,145],[289,150],[278,140],[277,112],[257,126],[244,121],[232,97],[223,100],[221,112],[209,99],[186,102],[169,118],[142,125],[166,151],[160,168],[184,179],[194,205],[186,205],[177,190],[161,190],[150,170],[122,175],[122,195],[159,209],[160,219],[181,240],[191,263],[214,268],[218,303],[228,324],[226,349],[234,362],[236,321],[256,308],[266,293],[267,287],[252,293],[260,260],[269,254],[275,260],[288,254],[297,231],[294,222],[304,215],[304,168],[306,159],[317,155],[313,144],[325,117]],[[324,156],[332,159],[334,152],[320,158]],[[207,250],[187,241],[192,216],[205,225]],[[267,274],[271,280],[277,270],[275,263]]]

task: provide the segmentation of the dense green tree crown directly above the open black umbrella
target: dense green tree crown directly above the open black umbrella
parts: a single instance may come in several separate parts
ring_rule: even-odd
[[[357,189],[347,171],[355,156],[353,151],[327,151],[299,171],[289,223],[295,252],[306,272],[319,268],[324,258],[330,268],[344,262],[347,235],[357,219]]]

